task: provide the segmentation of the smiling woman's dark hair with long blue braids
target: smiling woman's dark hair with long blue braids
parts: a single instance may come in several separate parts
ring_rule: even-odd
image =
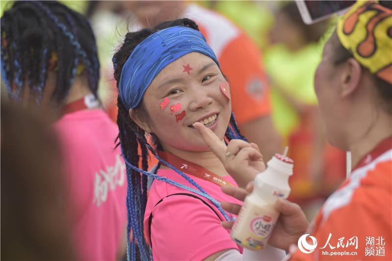
[[[114,78],[117,80],[117,85],[121,77],[123,65],[129,57],[132,50],[149,35],[156,32],[158,29],[164,29],[166,27],[184,25],[189,26],[197,30],[197,25],[194,21],[189,19],[179,19],[175,21],[165,22],[158,25],[153,29],[143,29],[138,32],[129,32],[126,34],[123,46],[117,51],[113,57],[114,64]],[[226,212],[221,208],[220,203],[206,193],[191,177],[184,174],[179,169],[175,168],[168,162],[165,162],[157,155],[157,150],[162,150],[162,146],[155,136],[150,134],[152,144],[149,144],[146,139],[146,133],[141,129],[132,119],[129,117],[128,110],[123,104],[120,97],[117,100],[118,104],[118,116],[117,124],[119,126],[119,135],[117,138],[117,146],[121,146],[123,158],[126,164],[126,175],[127,175],[127,259],[128,260],[152,260],[152,252],[144,237],[144,214],[147,204],[147,176],[153,177],[154,179],[161,180],[172,184],[173,186],[182,188],[184,190],[192,191],[202,197],[209,199],[221,212],[221,214],[230,220]],[[136,117],[142,121],[147,121],[146,109],[143,102],[134,109]],[[230,117],[230,123],[225,133],[225,138],[230,141],[232,139],[246,140],[240,133],[234,115]],[[142,166],[140,166],[139,150],[142,152]],[[172,168],[176,173],[182,176],[185,180],[190,183],[190,186],[174,182],[168,178],[160,177],[154,173],[147,171],[148,163],[147,157],[148,152],[154,156],[160,164],[164,164]],[[135,253],[136,252],[136,253]]]

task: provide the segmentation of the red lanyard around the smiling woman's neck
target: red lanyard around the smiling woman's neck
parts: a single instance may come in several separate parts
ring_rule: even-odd
[[[204,167],[198,166],[194,163],[191,163],[189,161],[183,160],[172,153],[169,152],[164,152],[164,151],[158,151],[159,157],[161,157],[164,161],[170,163],[172,166],[176,167],[177,169],[195,176],[197,178],[215,183],[219,186],[234,186],[230,181],[225,180],[224,178],[218,176],[217,174],[209,171],[208,169],[205,169]]]

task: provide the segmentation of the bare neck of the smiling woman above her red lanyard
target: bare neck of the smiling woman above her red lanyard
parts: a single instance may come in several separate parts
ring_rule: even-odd
[[[194,163],[198,166],[204,167],[209,171],[217,174],[218,176],[227,176],[226,169],[224,168],[221,161],[218,157],[210,150],[210,151],[188,151],[173,148],[169,145],[162,145],[163,149],[166,152],[172,153],[173,155],[180,157],[183,160]],[[169,169],[167,166],[161,166],[162,168]]]

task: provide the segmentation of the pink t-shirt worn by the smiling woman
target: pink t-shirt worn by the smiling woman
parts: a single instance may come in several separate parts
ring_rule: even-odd
[[[159,169],[157,175],[196,189],[196,187],[171,169]],[[240,204],[238,200],[224,194],[220,186],[194,176],[190,177],[216,200]],[[230,176],[225,176],[224,178],[235,184],[235,181]],[[174,193],[196,195],[208,203],[215,212],[200,199],[192,196],[169,196]],[[155,206],[162,198],[163,201]],[[231,239],[230,231],[222,227],[221,221],[225,219],[221,212],[210,200],[196,193],[180,189],[164,181],[154,180],[149,190],[144,219],[147,237],[148,219],[151,212],[153,216],[151,222],[151,243],[154,260],[203,260],[225,249],[238,249],[242,252],[242,248],[240,249]]]

